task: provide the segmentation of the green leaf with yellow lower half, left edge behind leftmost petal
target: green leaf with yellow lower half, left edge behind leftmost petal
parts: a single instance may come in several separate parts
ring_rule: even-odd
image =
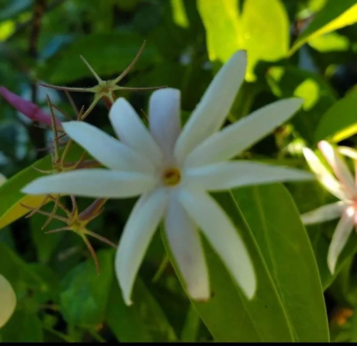
[[[68,162],[78,160],[82,152],[83,149],[74,144],[67,156]],[[28,209],[22,207],[20,203],[37,207],[44,200],[44,196],[24,195],[20,191],[27,183],[43,175],[34,167],[42,170],[51,169],[50,155],[24,168],[0,186],[0,230],[28,213]]]

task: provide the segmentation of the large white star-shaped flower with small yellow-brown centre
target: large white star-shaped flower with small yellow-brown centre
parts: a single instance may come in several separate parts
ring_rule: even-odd
[[[244,79],[245,53],[220,69],[181,131],[180,91],[161,89],[149,101],[146,129],[124,99],[109,118],[119,140],[84,122],[64,130],[109,169],[81,169],[28,184],[28,194],[60,193],[121,198],[141,195],[124,227],[115,269],[124,301],[131,292],[145,251],[161,219],[188,294],[210,297],[208,270],[198,228],[248,298],[254,295],[254,269],[231,219],[207,193],[236,186],[310,179],[311,174],[248,161],[228,161],[291,117],[302,100],[263,107],[221,131]]]

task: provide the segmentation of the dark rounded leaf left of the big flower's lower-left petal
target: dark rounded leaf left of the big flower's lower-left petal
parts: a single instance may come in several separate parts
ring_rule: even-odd
[[[63,279],[60,311],[70,324],[83,327],[102,323],[113,279],[113,251],[98,251],[101,273],[92,258],[74,267]]]

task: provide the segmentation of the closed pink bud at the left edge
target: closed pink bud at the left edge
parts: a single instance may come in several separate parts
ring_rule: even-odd
[[[0,95],[15,107],[19,112],[27,116],[33,121],[38,121],[52,127],[51,116],[45,113],[39,106],[34,103],[24,100],[22,97],[11,92],[5,86],[0,86]],[[57,128],[62,128],[61,121],[56,118]]]

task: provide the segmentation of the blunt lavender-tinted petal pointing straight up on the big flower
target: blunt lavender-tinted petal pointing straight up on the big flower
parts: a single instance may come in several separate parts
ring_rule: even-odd
[[[149,100],[150,131],[167,159],[173,156],[181,130],[181,92],[165,88],[152,93]]]

